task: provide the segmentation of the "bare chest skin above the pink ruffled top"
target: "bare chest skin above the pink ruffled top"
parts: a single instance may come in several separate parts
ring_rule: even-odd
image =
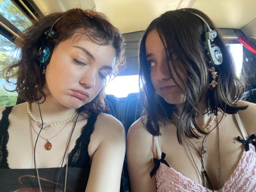
[[[219,125],[219,142],[217,127],[205,138],[205,141],[203,141],[204,136],[199,139],[185,139],[183,145],[177,141],[175,127],[163,129],[162,132],[161,151],[166,153],[165,160],[169,165],[183,176],[201,185],[202,178],[206,182],[202,173],[202,165],[204,165],[215,189],[218,186],[218,171],[221,171],[220,186],[223,186],[237,167],[244,151],[243,144],[237,140],[237,136],[241,136],[241,133],[233,118],[226,119]],[[201,154],[202,145],[207,151],[202,152],[203,162],[201,163],[199,153]]]

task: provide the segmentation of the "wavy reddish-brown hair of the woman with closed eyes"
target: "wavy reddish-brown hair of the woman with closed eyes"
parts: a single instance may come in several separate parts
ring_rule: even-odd
[[[90,10],[91,11],[91,10]],[[54,31],[57,32],[57,39],[48,39],[47,43],[52,46],[58,45],[59,42],[71,38],[74,33],[79,35],[86,35],[90,40],[99,45],[112,45],[115,49],[116,62],[113,73],[118,71],[118,67],[125,63],[124,59],[124,38],[120,31],[114,27],[107,19],[107,17],[95,11],[91,18],[88,11],[82,9],[70,9],[66,12],[53,13],[43,16],[34,21],[33,25],[19,34],[21,39],[18,39],[17,49],[21,53],[14,63],[6,70],[6,80],[10,78],[17,78],[16,89],[18,97],[27,102],[35,102],[38,100],[38,93],[40,87],[45,85],[45,75],[42,75],[42,67],[39,71],[39,64],[36,61],[37,52],[42,45],[43,33],[53,26]],[[41,76],[41,85],[39,85],[39,75]],[[93,101],[82,106],[84,112],[99,113],[105,109],[104,104],[104,88],[93,99]],[[41,92],[45,97],[45,94]]]

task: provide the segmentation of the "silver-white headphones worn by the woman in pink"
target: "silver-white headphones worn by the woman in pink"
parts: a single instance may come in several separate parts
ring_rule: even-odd
[[[192,12],[190,12],[192,13]],[[211,47],[211,42],[215,37],[217,37],[217,32],[215,30],[212,30],[209,26],[209,24],[205,21],[204,18],[202,18],[200,15],[192,13],[196,16],[198,16],[202,21],[206,24],[208,27],[208,32],[205,33],[205,40],[206,40],[206,46],[207,50],[211,59],[211,63],[214,65],[220,65],[223,62],[223,56],[221,49],[218,46]]]

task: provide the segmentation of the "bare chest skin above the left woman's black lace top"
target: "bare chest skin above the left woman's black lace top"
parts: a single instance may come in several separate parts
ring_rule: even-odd
[[[82,127],[86,123],[77,123],[71,137],[70,146],[68,146],[73,122],[62,123],[47,130],[42,130],[40,133],[41,137],[38,137],[40,128],[35,122],[32,122],[33,127],[31,127],[29,118],[27,118],[27,121],[18,121],[17,118],[13,119],[10,115],[9,121],[7,162],[10,168],[34,168],[33,154],[36,141],[35,159],[38,168],[60,167],[63,159],[64,166],[67,162],[67,153],[64,155],[65,151],[72,151],[77,138],[81,135]],[[52,145],[50,150],[46,150],[45,147],[47,139],[49,139]]]

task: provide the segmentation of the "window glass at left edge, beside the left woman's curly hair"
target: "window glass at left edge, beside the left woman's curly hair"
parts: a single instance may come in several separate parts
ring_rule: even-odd
[[[6,83],[3,78],[3,70],[8,67],[17,55],[17,51],[14,51],[15,44],[2,35],[0,35],[0,107],[15,105],[17,99],[17,93],[6,91],[7,89],[14,89],[15,87]],[[16,80],[11,80],[15,82]]]

